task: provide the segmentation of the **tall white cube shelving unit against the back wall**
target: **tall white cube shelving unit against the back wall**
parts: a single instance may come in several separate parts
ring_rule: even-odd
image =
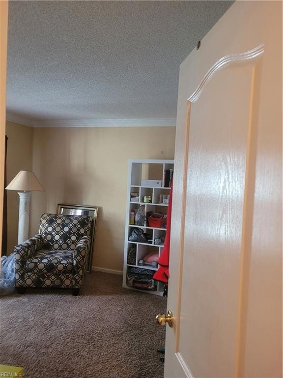
[[[136,211],[140,206],[144,205],[144,212],[167,214],[168,203],[160,203],[161,195],[169,195],[170,187],[165,187],[165,171],[173,170],[174,160],[153,160],[153,159],[134,159],[129,160],[128,168],[128,186],[127,186],[127,206],[126,206],[126,225],[125,225],[125,248],[124,248],[124,270],[123,270],[123,287],[128,289],[139,290],[127,285],[127,272],[129,268],[141,268],[149,271],[156,271],[158,268],[154,268],[148,265],[139,265],[139,260],[143,259],[145,255],[150,252],[157,252],[160,256],[163,245],[154,244],[156,238],[164,237],[166,235],[165,227],[149,227],[146,225],[133,225],[130,224],[130,212],[132,209]],[[142,186],[142,180],[156,180],[161,181],[161,187],[150,187]],[[138,193],[135,201],[131,201],[131,193]],[[152,203],[144,202],[144,196],[151,196]],[[141,242],[131,242],[129,241],[129,236],[132,233],[134,227],[139,227],[146,232],[148,235],[152,236],[152,242],[141,243]],[[128,263],[128,253],[132,246],[136,247],[136,257],[135,263]],[[163,294],[163,284],[155,284],[152,290],[141,290],[143,292],[148,292],[151,294],[162,295]]]

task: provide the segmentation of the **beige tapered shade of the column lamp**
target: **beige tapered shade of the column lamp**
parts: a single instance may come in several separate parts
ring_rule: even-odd
[[[5,189],[44,191],[35,174],[29,171],[20,171]]]

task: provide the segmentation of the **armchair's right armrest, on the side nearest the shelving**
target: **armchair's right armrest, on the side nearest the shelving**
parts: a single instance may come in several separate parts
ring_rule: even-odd
[[[80,288],[83,284],[87,253],[89,252],[90,237],[83,236],[76,245],[73,253],[73,282],[72,287]]]

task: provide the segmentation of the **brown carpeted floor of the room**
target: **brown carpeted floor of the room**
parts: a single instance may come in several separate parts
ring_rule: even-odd
[[[121,287],[122,276],[86,275],[81,295],[29,289],[0,298],[0,364],[25,378],[162,378],[156,349],[166,299]]]

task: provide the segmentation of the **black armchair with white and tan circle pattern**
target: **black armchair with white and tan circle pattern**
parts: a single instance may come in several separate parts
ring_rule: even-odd
[[[82,287],[90,246],[92,220],[85,215],[43,214],[38,235],[15,247],[16,288]]]

